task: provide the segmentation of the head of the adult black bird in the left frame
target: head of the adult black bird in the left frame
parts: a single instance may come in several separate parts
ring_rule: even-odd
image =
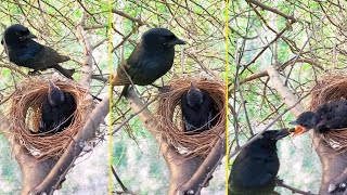
[[[33,35],[27,27],[15,24],[4,30],[1,44],[15,46],[35,38],[37,37]]]

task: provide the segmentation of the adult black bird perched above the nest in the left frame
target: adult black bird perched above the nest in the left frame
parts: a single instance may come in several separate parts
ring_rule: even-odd
[[[4,46],[10,61],[18,66],[33,68],[34,72],[29,72],[30,74],[54,68],[72,79],[75,69],[65,69],[59,65],[69,61],[69,57],[60,55],[52,48],[36,42],[33,40],[35,38],[37,37],[28,28],[15,24],[4,30],[1,44]]]

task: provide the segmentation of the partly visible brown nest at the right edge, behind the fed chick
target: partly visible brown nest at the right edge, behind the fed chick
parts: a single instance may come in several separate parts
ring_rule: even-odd
[[[347,74],[329,73],[317,82],[311,92],[310,110],[331,101],[347,100]],[[323,139],[335,150],[347,150],[347,128],[327,131]]]

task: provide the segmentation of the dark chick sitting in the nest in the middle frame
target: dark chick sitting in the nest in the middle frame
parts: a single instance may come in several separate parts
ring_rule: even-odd
[[[197,89],[193,83],[182,94],[181,110],[188,133],[201,133],[217,123],[217,109],[213,98],[207,91]]]

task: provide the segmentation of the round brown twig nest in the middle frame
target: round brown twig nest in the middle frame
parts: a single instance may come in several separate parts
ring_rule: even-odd
[[[196,88],[209,93],[218,112],[216,126],[197,134],[184,132],[181,108],[178,106],[182,94],[190,89],[191,82]],[[176,79],[168,86],[169,91],[160,94],[158,100],[158,129],[183,157],[206,157],[222,133],[226,132],[226,84],[215,80]]]

